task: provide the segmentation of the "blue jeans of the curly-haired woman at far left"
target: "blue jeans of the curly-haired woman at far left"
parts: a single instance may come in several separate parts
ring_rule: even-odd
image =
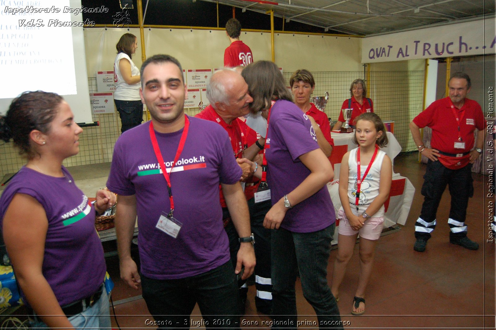
[[[102,290],[100,299],[93,306],[69,318],[70,324],[75,329],[112,329],[110,324],[109,296],[107,295],[105,286],[102,287]],[[32,329],[48,328],[36,314],[29,316],[29,323]]]

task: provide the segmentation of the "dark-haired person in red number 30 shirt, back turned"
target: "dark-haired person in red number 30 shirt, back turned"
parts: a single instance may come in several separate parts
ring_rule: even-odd
[[[241,23],[236,18],[231,18],[226,23],[226,34],[231,45],[224,51],[224,66],[248,66],[253,62],[251,49],[240,40]]]

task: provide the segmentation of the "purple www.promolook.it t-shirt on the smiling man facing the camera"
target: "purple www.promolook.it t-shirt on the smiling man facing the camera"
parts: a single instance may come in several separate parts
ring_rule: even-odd
[[[154,279],[201,274],[230,259],[219,184],[235,184],[242,170],[221,126],[188,119],[186,143],[170,175],[174,217],[182,223],[177,238],[156,228],[162,212],[169,213],[170,200],[150,140],[150,122],[124,132],[114,148],[107,187],[119,195],[136,195],[141,272]],[[171,168],[182,133],[156,132],[166,168]]]

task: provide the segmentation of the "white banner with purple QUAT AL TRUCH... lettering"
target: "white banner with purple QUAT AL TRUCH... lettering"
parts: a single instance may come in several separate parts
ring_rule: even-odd
[[[496,18],[364,38],[362,63],[495,54]]]

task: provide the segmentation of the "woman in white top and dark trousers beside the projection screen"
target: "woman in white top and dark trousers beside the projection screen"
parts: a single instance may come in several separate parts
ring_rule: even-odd
[[[139,69],[131,61],[137,47],[136,36],[130,33],[125,33],[116,45],[114,102],[121,117],[121,132],[132,129],[143,121],[143,104],[139,96]]]

